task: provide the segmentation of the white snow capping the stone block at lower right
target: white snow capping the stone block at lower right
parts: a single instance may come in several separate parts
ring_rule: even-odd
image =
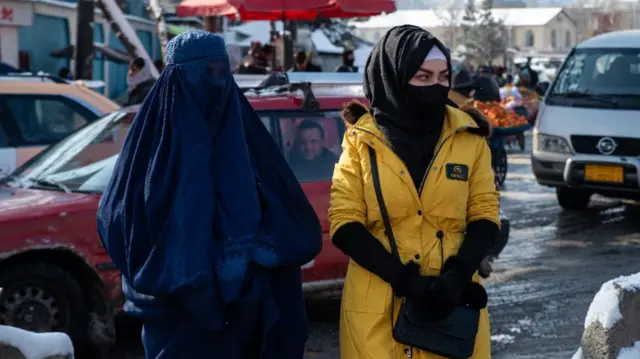
[[[618,294],[621,290],[635,288],[640,288],[640,273],[626,277],[618,277],[605,282],[589,306],[584,327],[587,328],[591,323],[598,321],[602,324],[603,328],[612,328],[622,319],[622,313],[620,313],[618,303]]]

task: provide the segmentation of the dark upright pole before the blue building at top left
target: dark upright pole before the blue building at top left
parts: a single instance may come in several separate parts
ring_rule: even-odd
[[[74,74],[76,80],[93,78],[93,17],[94,0],[78,0]]]

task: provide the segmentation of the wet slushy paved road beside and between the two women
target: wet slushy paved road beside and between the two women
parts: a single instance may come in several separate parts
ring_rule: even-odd
[[[510,153],[509,166],[502,207],[511,239],[486,283],[493,357],[568,359],[602,283],[640,272],[640,209],[596,199],[587,213],[565,213],[535,183],[527,154]],[[338,311],[339,293],[309,302],[306,358],[339,358]],[[131,340],[121,343],[113,359],[142,358]]]

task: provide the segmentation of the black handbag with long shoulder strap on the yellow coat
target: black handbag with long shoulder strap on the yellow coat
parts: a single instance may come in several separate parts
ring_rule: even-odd
[[[389,220],[389,213],[382,197],[376,152],[372,147],[369,147],[369,157],[371,159],[373,186],[380,206],[385,234],[391,246],[391,253],[400,258],[396,239],[391,228],[391,221]],[[393,308],[395,306],[395,294],[392,298]],[[447,318],[441,321],[434,321],[425,318],[422,314],[427,310],[428,308],[422,308],[419,302],[404,298],[395,324],[393,320],[394,311],[391,310],[393,338],[400,344],[449,359],[467,359],[471,357],[476,342],[476,334],[478,333],[480,311],[467,306],[460,306]]]

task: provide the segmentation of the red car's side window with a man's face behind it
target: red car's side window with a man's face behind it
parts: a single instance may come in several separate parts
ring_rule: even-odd
[[[300,182],[330,181],[342,151],[339,111],[281,113],[276,116],[283,152]]]

